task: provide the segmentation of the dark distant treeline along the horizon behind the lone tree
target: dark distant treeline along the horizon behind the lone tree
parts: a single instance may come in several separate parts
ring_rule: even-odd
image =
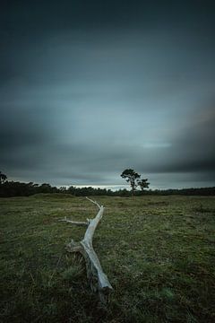
[[[19,181],[4,181],[0,183],[0,197],[10,196],[31,196],[39,193],[64,193],[73,196],[131,196],[131,191],[127,189],[119,189],[112,191],[106,188],[76,188],[71,186],[69,188],[56,188],[50,184],[35,184],[22,183]],[[149,189],[137,190],[135,196],[142,195],[187,195],[187,196],[215,196],[215,188],[183,188],[183,189]]]

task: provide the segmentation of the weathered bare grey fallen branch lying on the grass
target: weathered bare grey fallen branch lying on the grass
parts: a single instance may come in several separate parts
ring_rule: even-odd
[[[92,238],[94,231],[96,230],[99,221],[102,218],[104,213],[104,206],[99,205],[96,201],[91,200],[89,197],[86,197],[91,203],[95,204],[99,208],[99,213],[94,219],[88,219],[88,223],[82,223],[81,225],[88,224],[88,228],[84,234],[84,238],[80,242],[71,242],[66,246],[66,250],[69,252],[81,252],[82,256],[86,262],[87,276],[90,281],[90,288],[93,292],[99,292],[99,300],[102,303],[107,302],[108,294],[113,290],[113,287],[108,281],[107,275],[102,270],[102,267],[99,262],[99,258],[93,249]],[[66,218],[61,220],[67,223],[80,224]]]

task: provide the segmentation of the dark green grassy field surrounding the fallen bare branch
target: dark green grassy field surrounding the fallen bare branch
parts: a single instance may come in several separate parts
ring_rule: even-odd
[[[69,240],[97,209],[83,197],[0,199],[1,322],[215,322],[215,198],[96,198],[106,211],[94,248],[114,292],[90,292]]]

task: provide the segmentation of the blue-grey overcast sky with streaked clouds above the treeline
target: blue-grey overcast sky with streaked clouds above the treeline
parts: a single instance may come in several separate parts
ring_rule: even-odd
[[[215,186],[212,1],[15,1],[0,13],[0,170],[122,188]]]

